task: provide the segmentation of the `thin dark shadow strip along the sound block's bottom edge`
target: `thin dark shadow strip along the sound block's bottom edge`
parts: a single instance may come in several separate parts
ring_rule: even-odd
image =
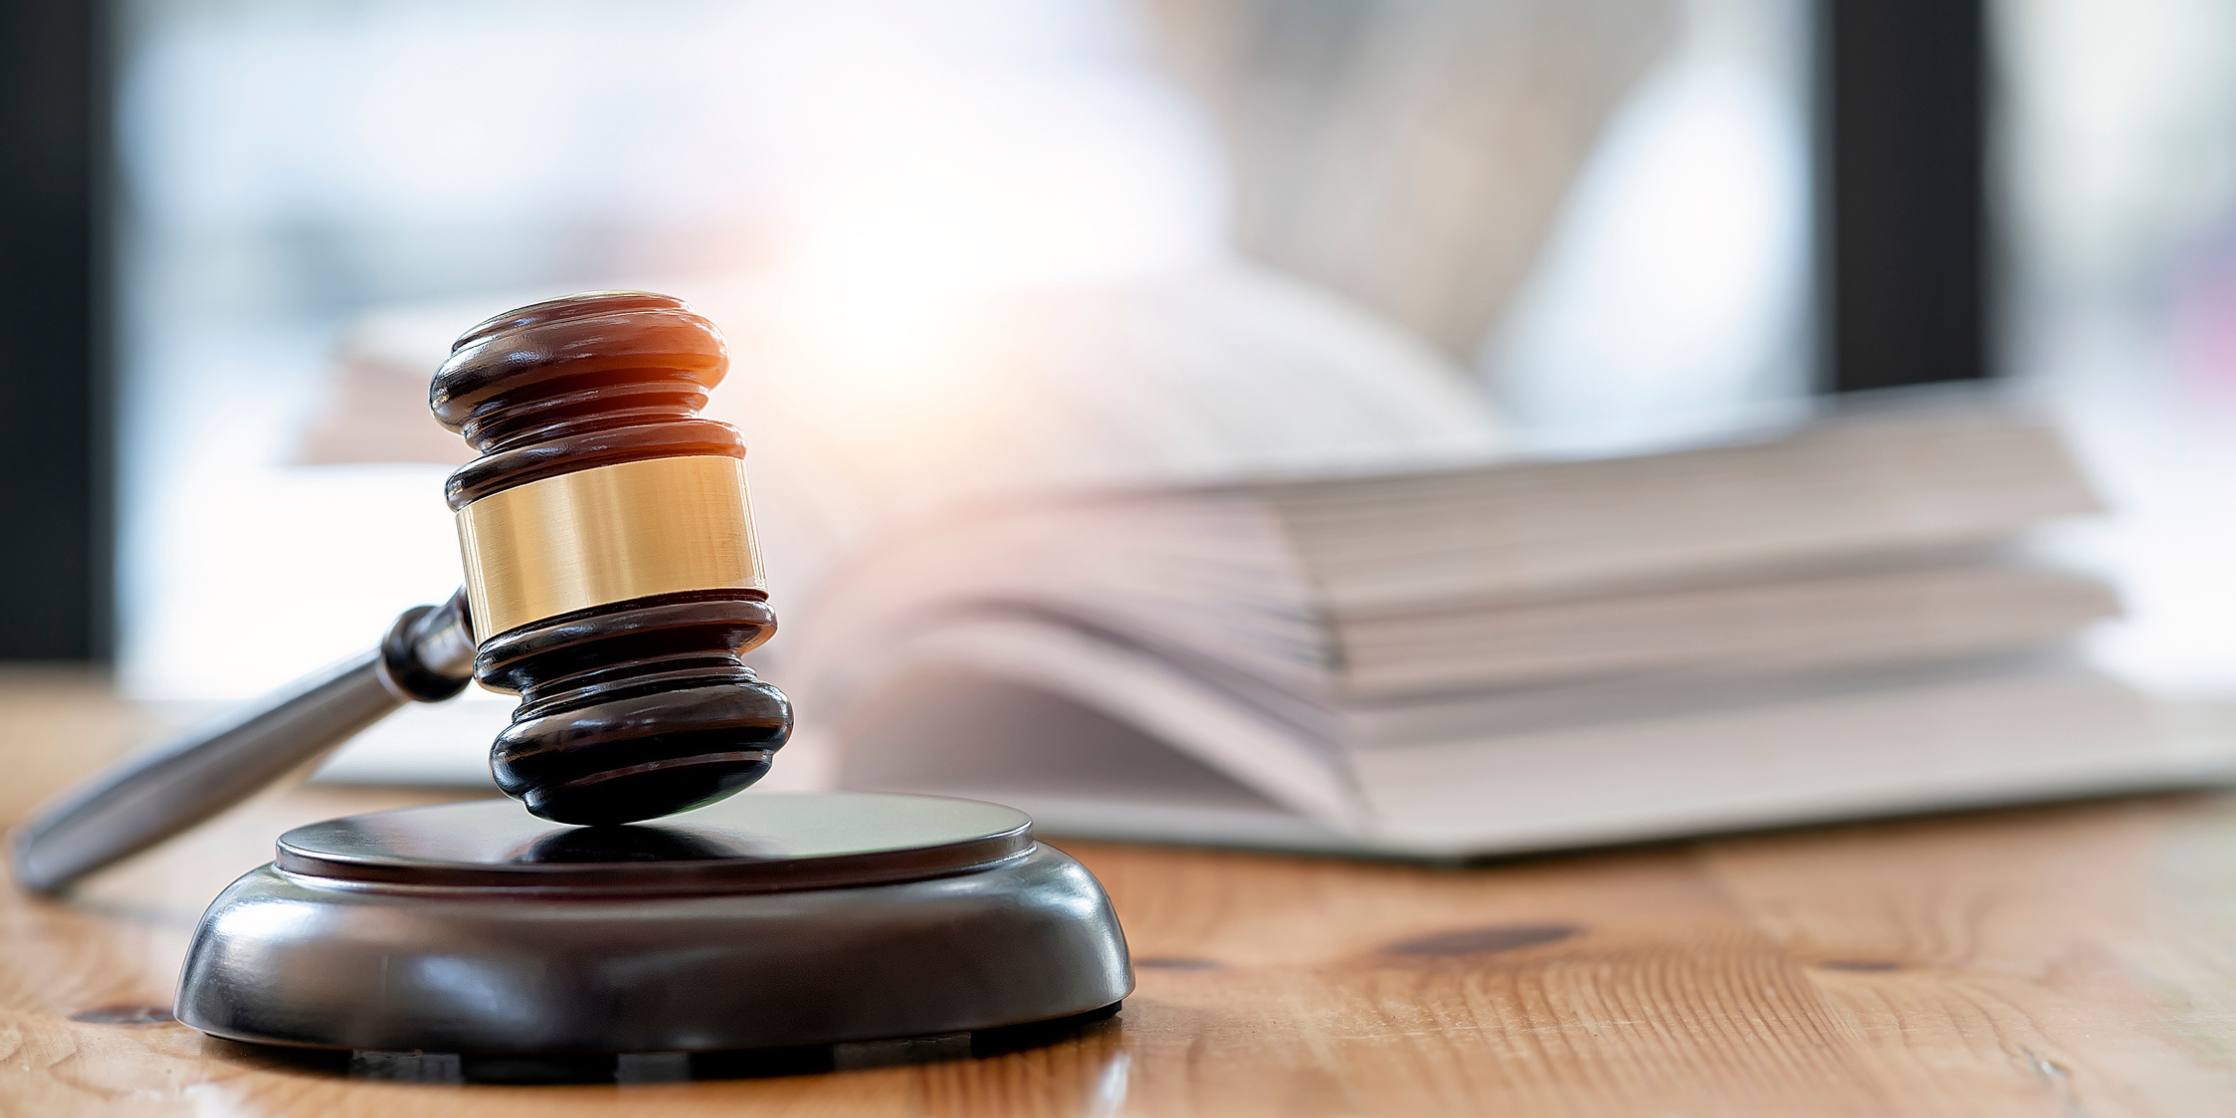
[[[1100,1080],[1100,1071],[1122,1058],[1118,1008],[1102,1008],[1060,1022],[982,1029],[908,1040],[872,1040],[852,1044],[814,1044],[800,1049],[716,1051],[716,1053],[619,1053],[619,1055],[519,1055],[519,1053],[391,1053],[391,1051],[313,1051],[244,1044],[203,1038],[203,1049],[217,1058],[250,1064],[262,1071],[291,1071],[369,1082],[429,1084],[651,1084],[700,1080],[758,1080],[785,1076],[825,1076],[877,1067],[935,1064],[948,1060],[995,1060],[1049,1044],[1078,1044],[1082,1082]]]

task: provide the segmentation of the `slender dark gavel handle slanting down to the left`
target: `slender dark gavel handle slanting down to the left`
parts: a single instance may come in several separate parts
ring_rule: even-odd
[[[472,680],[463,593],[396,617],[380,648],[297,680],[246,716],[127,758],[16,832],[16,885],[63,892],[342,745],[405,702],[440,702]]]

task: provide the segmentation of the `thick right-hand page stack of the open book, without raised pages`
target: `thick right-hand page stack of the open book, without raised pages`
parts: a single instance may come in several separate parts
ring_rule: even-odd
[[[957,514],[839,579],[839,780],[1046,825],[1424,856],[2180,785],[2227,754],[2062,655],[2093,512],[1995,411]]]

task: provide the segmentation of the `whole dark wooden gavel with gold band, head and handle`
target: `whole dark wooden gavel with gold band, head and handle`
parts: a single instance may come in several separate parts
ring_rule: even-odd
[[[557,823],[631,823],[769,771],[792,704],[740,655],[776,633],[745,440],[702,418],[729,369],[682,300],[539,302],[458,338],[429,407],[479,458],[449,476],[465,588],[246,718],[134,758],[16,834],[58,892],[230,807],[402,702],[517,693],[490,771]]]

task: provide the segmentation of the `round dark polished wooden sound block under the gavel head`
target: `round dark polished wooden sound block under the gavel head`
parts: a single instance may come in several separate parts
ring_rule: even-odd
[[[255,1044],[704,1053],[1105,1015],[1102,885],[1022,812],[747,794],[568,827],[510,800],[295,827],[203,912],[181,1022]]]

